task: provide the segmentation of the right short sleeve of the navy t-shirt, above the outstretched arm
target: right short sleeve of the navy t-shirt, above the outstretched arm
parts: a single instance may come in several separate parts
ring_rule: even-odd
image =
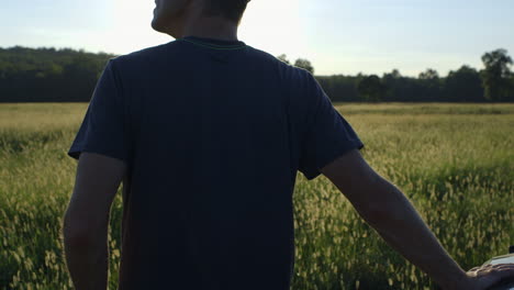
[[[321,168],[351,149],[364,148],[364,144],[310,72],[304,88],[306,121],[298,169],[312,180],[321,175]]]

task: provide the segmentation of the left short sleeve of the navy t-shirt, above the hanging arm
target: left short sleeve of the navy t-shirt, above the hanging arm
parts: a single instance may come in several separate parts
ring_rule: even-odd
[[[127,161],[126,120],[125,102],[114,60],[110,59],[97,82],[83,121],[67,154],[78,159],[81,152],[89,152]]]

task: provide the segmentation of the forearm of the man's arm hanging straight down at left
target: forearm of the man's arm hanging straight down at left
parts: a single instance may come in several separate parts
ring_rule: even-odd
[[[107,226],[90,236],[71,237],[64,231],[66,263],[77,290],[107,289],[109,252]]]

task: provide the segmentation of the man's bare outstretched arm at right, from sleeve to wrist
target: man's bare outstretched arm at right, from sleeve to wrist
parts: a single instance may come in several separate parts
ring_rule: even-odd
[[[467,289],[470,281],[427,227],[409,199],[379,176],[357,149],[321,169],[359,215],[407,260],[443,289]]]

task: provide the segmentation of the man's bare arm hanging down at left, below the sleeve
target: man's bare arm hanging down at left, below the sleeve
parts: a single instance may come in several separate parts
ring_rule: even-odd
[[[121,159],[80,154],[63,224],[66,263],[77,290],[107,289],[110,209],[125,174]]]

